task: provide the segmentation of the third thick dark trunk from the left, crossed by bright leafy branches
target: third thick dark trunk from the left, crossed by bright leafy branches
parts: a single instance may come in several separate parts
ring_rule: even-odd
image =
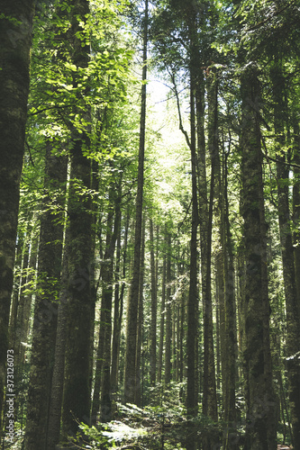
[[[89,47],[80,40],[82,23],[89,13],[87,0],[73,0],[71,4],[71,35],[73,44],[72,62],[77,67],[87,67]],[[77,85],[77,80],[73,80]],[[85,109],[85,111],[84,111]],[[87,112],[86,112],[87,110]],[[79,117],[90,118],[87,105],[77,106]],[[91,292],[90,266],[92,263],[91,162],[85,156],[90,146],[86,130],[79,132],[72,127],[70,149],[70,193],[68,202],[68,233],[72,246],[68,255],[68,327],[66,343],[65,384],[63,399],[63,432],[67,437],[76,434],[77,420],[89,423],[90,416],[90,364],[91,327],[94,299]],[[77,191],[83,187],[85,195]]]

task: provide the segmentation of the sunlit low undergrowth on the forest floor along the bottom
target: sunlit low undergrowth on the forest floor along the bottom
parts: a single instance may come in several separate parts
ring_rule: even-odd
[[[115,420],[89,428],[80,425],[84,439],[80,442],[69,442],[66,446],[76,450],[185,450],[186,437],[200,442],[205,433],[219,434],[217,428],[212,428],[207,423],[191,424],[180,414],[180,411],[163,410],[159,407],[141,409],[135,405],[118,405]],[[220,431],[220,428],[219,428]],[[194,435],[194,436],[193,436]],[[3,450],[22,450],[24,430],[15,432],[14,443],[5,439]],[[239,436],[239,444],[242,447],[242,435]],[[218,446],[222,450],[222,446]],[[292,450],[292,446],[278,444],[277,450]]]

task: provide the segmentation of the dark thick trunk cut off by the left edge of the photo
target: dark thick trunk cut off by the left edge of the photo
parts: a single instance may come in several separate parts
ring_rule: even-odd
[[[4,0],[0,26],[0,443],[34,0]],[[14,19],[14,22],[10,19]]]

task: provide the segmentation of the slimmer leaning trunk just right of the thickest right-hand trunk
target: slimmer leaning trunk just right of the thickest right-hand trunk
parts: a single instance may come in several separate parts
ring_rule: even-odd
[[[289,401],[293,428],[293,445],[300,449],[300,365],[297,354],[300,351],[299,336],[299,306],[295,284],[295,261],[293,235],[290,227],[289,212],[289,166],[286,161],[284,100],[285,78],[282,73],[281,62],[274,62],[272,69],[273,98],[274,98],[274,130],[277,134],[277,197],[278,220],[281,243],[281,256],[286,296],[286,361],[289,380]]]

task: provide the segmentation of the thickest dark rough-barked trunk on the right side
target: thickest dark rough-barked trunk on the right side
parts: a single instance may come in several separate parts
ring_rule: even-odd
[[[242,216],[246,258],[245,334],[247,422],[244,450],[276,448],[276,418],[269,344],[266,221],[255,63],[241,76]]]

